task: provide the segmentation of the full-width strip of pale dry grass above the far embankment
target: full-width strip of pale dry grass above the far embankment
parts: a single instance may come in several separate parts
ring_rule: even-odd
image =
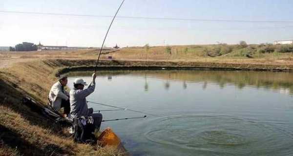
[[[101,59],[109,56],[117,60],[143,60],[143,61],[177,61],[177,62],[215,62],[215,63],[250,63],[250,64],[280,64],[293,65],[293,53],[259,53],[263,48],[261,45],[249,45],[246,48],[239,48],[238,45],[227,45],[233,50],[230,53],[217,57],[207,56],[206,49],[213,49],[219,45],[182,45],[169,46],[171,54],[167,53],[167,46],[129,47],[117,51],[103,51]],[[278,45],[274,45],[278,46]],[[276,48],[275,47],[275,48]],[[35,52],[2,52],[1,62],[12,63],[31,61],[32,59],[97,59],[99,50],[68,50],[68,51],[35,51]],[[252,57],[248,58],[245,54]],[[5,58],[4,58],[5,57]],[[2,63],[2,64],[4,64]],[[6,63],[5,67],[11,65]],[[2,66],[3,67],[3,66]],[[1,68],[1,65],[0,65]]]

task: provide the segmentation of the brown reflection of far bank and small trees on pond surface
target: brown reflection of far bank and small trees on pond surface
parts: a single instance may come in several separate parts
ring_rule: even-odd
[[[91,72],[70,72],[70,76],[85,76]],[[99,71],[100,76],[106,76],[112,80],[114,75],[144,75],[144,90],[149,91],[147,78],[164,79],[164,88],[170,89],[171,83],[183,82],[183,89],[187,89],[188,83],[203,83],[202,89],[207,89],[208,83],[219,85],[224,89],[227,85],[235,85],[238,89],[253,86],[257,89],[273,89],[283,94],[293,94],[293,73],[275,72],[251,72],[251,71]]]

